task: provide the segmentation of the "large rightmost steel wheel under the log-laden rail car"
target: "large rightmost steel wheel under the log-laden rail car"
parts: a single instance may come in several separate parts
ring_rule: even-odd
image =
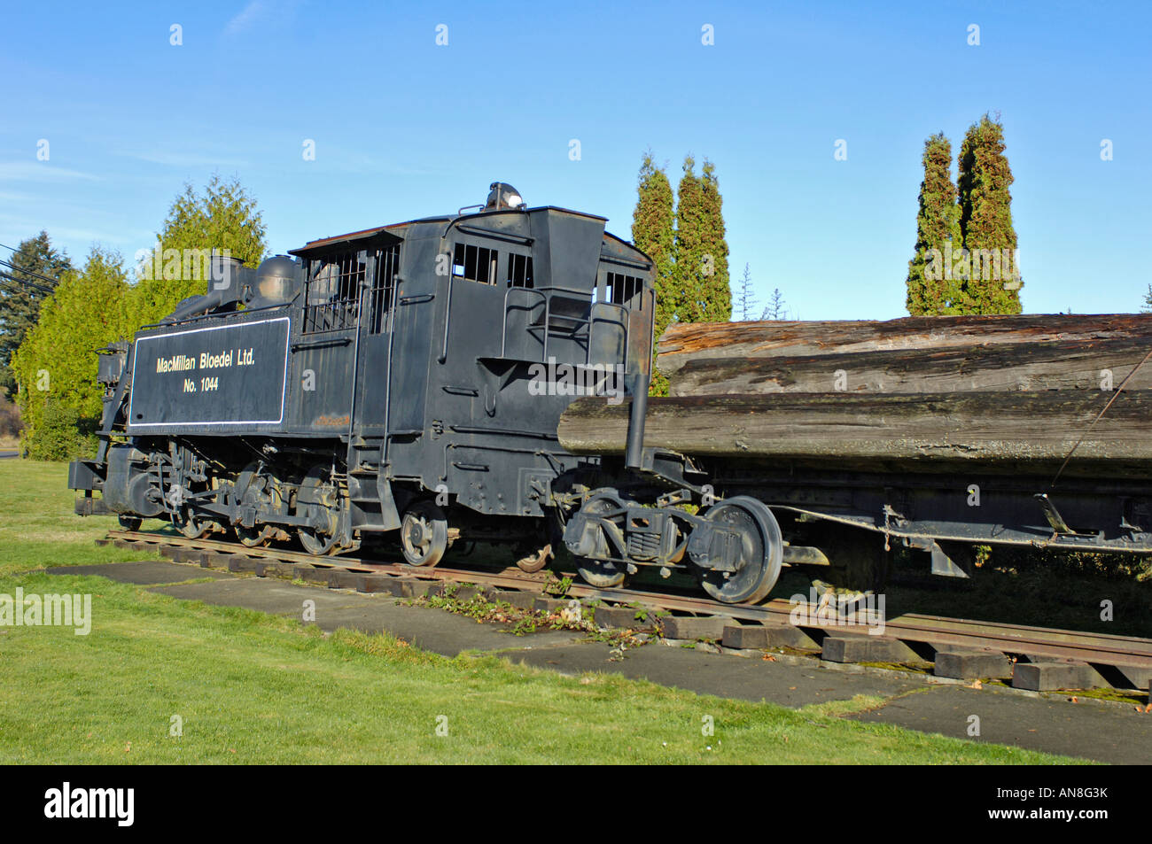
[[[756,499],[737,495],[712,507],[704,517],[735,527],[742,541],[736,570],[705,571],[700,586],[725,603],[763,601],[776,585],[783,564],[785,543],[775,516]]]

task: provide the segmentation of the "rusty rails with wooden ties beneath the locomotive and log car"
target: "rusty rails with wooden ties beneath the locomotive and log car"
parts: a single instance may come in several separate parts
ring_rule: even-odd
[[[464,584],[452,591],[456,600],[482,596],[545,613],[559,611],[578,599],[592,605],[598,626],[653,630],[673,644],[702,642],[741,655],[767,657],[765,652],[771,649],[798,656],[818,654],[825,663],[881,663],[919,671],[933,663],[932,671],[940,678],[1010,679],[1014,687],[1032,692],[1092,687],[1146,691],[1152,679],[1152,640],[1136,637],[918,614],[877,618],[874,608],[871,613],[866,607],[844,611],[827,605],[794,606],[779,599],[761,606],[733,606],[636,590],[598,590],[578,583],[568,586],[563,598],[555,598],[544,591],[547,572],[528,575],[515,568],[501,572],[415,571],[400,563],[354,557],[318,562],[290,550],[129,531],[112,531],[99,541],[135,549],[156,547],[177,562],[203,568],[399,598],[442,595],[446,584]]]

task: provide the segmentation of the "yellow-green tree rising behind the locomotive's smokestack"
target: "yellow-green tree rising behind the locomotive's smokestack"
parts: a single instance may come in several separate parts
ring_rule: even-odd
[[[187,272],[182,260],[183,250],[225,250],[233,258],[255,267],[267,251],[266,229],[256,200],[233,178],[222,182],[213,176],[198,195],[192,185],[185,184],[168,210],[164,228],[157,235],[161,260],[151,261],[145,275],[134,291],[139,319],[136,327],[156,322],[176,307],[182,299],[198,296],[207,289],[206,277]],[[166,257],[168,250],[176,250],[175,260]]]

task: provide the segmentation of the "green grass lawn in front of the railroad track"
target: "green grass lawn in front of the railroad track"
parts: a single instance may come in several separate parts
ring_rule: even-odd
[[[92,543],[115,520],[73,516],[66,472],[0,461],[0,593],[91,593],[93,613],[86,637],[0,628],[3,763],[1071,761],[838,717],[874,700],[791,710],[613,675],[561,677],[52,577],[38,570],[143,556]]]

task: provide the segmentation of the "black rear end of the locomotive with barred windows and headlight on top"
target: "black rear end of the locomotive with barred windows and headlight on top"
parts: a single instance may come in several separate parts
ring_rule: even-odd
[[[546,556],[525,518],[544,519],[582,463],[559,444],[560,415],[582,395],[619,401],[626,382],[646,391],[652,265],[604,223],[497,202],[404,227],[377,417],[396,511],[433,496],[401,527],[410,561],[434,557],[449,522],[482,540],[529,529]]]

